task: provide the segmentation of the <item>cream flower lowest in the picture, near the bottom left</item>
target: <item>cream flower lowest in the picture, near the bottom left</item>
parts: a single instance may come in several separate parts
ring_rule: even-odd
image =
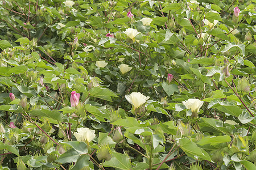
[[[77,132],[74,133],[77,141],[80,142],[90,142],[95,138],[95,130],[90,130],[89,128],[78,128]]]

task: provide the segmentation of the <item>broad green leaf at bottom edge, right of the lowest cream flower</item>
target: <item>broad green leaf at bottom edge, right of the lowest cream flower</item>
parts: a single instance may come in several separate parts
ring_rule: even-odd
[[[127,155],[113,152],[113,157],[104,163],[104,167],[113,167],[117,169],[131,169],[130,159]]]

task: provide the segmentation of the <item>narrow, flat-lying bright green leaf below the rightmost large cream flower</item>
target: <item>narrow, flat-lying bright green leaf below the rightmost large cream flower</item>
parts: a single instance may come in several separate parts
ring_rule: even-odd
[[[230,142],[231,138],[228,135],[224,136],[207,136],[201,139],[199,142],[197,142],[198,145],[218,145],[219,143],[225,143],[225,142]]]

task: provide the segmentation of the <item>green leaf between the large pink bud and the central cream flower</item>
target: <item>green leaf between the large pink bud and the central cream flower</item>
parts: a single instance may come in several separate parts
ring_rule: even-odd
[[[110,91],[108,88],[94,87],[89,90],[89,93],[93,97],[97,97],[103,100],[112,101],[111,97],[118,97],[114,92]]]

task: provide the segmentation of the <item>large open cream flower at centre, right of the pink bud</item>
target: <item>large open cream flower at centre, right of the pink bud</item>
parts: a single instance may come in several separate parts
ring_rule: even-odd
[[[141,92],[132,92],[130,95],[125,95],[125,99],[137,109],[144,104],[150,97],[146,97]]]

